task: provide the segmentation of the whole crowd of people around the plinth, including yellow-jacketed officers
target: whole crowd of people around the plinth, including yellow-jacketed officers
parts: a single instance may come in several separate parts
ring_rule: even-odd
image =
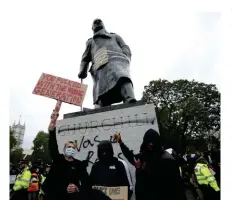
[[[54,115],[52,115],[54,117]],[[55,116],[57,118],[57,116]],[[174,149],[164,150],[160,135],[153,129],[145,132],[138,154],[123,142],[120,134],[114,139],[123,155],[135,168],[135,187],[124,160],[114,157],[110,141],[98,145],[98,161],[87,172],[85,161],[75,159],[76,144],[68,141],[60,154],[55,125],[49,126],[49,149],[52,164],[45,170],[37,163],[28,166],[25,160],[10,175],[16,175],[10,186],[11,200],[110,200],[93,186],[127,186],[128,200],[135,192],[136,200],[219,200],[220,153],[186,152],[178,155]]]

